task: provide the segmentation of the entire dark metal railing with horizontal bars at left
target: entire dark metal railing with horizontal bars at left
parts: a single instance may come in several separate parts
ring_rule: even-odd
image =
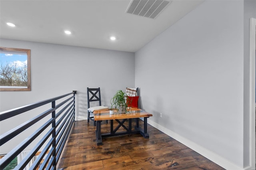
[[[42,125],[40,128],[34,130],[30,136],[26,137],[10,152],[8,152],[2,159],[0,159],[1,170],[4,169],[4,167],[6,167],[14,158],[16,158],[16,156],[18,156],[18,154],[20,154],[33,140],[35,140],[38,135],[44,136],[40,138],[39,142],[33,146],[29,154],[26,155],[26,157],[15,167],[14,170],[25,168],[28,162],[30,162],[30,160],[38,152],[40,152],[40,154],[37,156],[30,169],[36,169],[40,165],[39,169],[46,168],[48,170],[56,170],[56,165],[60,159],[64,144],[75,121],[75,94],[76,91],[73,91],[72,93],[59,97],[54,97],[52,99],[40,101],[38,103],[0,113],[0,121],[4,121],[11,117],[26,113],[32,109],[52,103],[52,107],[50,109],[0,135],[0,146],[2,146],[32,125],[36,123],[40,123],[40,125]],[[56,105],[56,101],[60,103]],[[50,114],[52,114],[51,117]],[[48,116],[50,119],[45,120],[47,119],[46,116]],[[45,132],[46,128],[50,128],[50,130],[46,130]]]

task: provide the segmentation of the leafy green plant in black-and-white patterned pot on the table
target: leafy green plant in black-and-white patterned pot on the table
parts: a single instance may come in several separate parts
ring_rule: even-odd
[[[126,93],[122,90],[118,90],[114,97],[111,99],[111,108],[115,106],[119,113],[126,113],[129,103],[132,101],[127,97]]]

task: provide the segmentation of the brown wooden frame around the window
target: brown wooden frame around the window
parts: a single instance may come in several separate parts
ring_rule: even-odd
[[[8,48],[8,47],[0,47],[0,51],[10,51],[10,52],[21,52],[27,54],[27,80],[28,85],[27,88],[2,88],[0,87],[0,91],[31,91],[31,83],[30,83],[30,49],[22,49],[22,48]],[[10,86],[12,87],[12,86]]]

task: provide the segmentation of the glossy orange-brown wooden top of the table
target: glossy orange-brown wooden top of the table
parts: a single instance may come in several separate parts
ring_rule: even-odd
[[[128,113],[120,114],[118,111],[114,111],[113,115],[109,114],[109,110],[98,110],[94,111],[94,120],[95,121],[104,121],[104,120],[114,120],[114,119],[131,119],[131,118],[139,118],[139,117],[151,117],[153,116],[146,111],[141,109],[132,108]]]

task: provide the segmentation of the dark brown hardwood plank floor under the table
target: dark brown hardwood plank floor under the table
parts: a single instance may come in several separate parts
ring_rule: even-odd
[[[109,128],[102,123],[102,132]],[[103,138],[102,146],[95,142],[95,129],[92,121],[74,123],[59,170],[224,170],[150,125],[149,139],[140,134],[115,136]]]

